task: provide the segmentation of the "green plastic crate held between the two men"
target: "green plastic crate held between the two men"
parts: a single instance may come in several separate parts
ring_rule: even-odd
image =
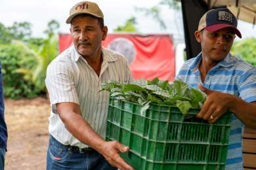
[[[130,147],[121,157],[135,169],[224,169],[231,114],[215,124],[195,118],[199,109],[184,116],[177,107],[142,106],[110,98],[107,141]]]

